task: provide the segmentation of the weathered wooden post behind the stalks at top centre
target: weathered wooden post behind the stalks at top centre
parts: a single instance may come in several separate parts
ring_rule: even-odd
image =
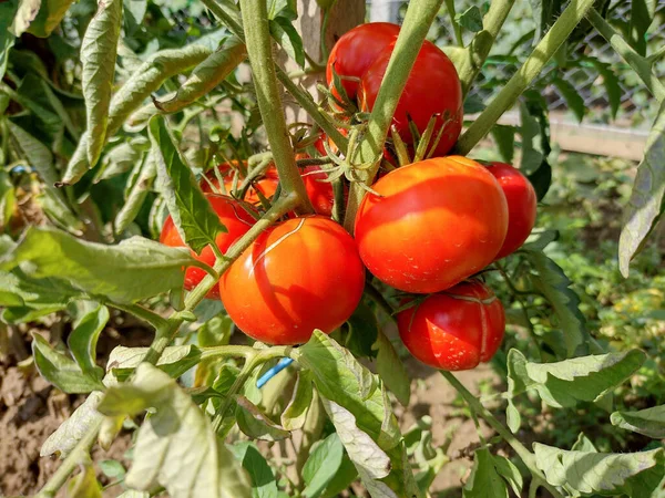
[[[326,46],[329,51],[339,37],[362,22],[365,22],[365,0],[337,0],[328,13],[328,25],[324,34],[324,11],[317,1],[298,0],[298,19],[295,27],[303,37],[303,46],[307,54],[324,66],[326,61],[321,51],[321,35],[325,35]],[[278,59],[287,72],[299,70],[298,65],[288,60],[286,54],[282,53]],[[318,72],[299,77],[296,81],[305,86],[316,101],[319,101],[321,96],[316,89],[316,84],[325,82],[325,72]],[[311,122],[307,113],[298,106],[293,97],[285,95],[284,105],[287,122]]]

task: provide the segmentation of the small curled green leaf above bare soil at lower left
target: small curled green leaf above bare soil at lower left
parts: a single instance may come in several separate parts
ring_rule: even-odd
[[[68,394],[85,394],[104,388],[102,382],[81,371],[69,356],[55,351],[44,338],[32,334],[32,356],[42,377]]]

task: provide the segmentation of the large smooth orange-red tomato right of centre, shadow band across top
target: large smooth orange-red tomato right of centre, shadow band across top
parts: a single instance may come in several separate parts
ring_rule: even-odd
[[[491,263],[508,230],[508,206],[484,166],[450,156],[395,169],[372,185],[356,216],[360,258],[407,292],[446,290]]]

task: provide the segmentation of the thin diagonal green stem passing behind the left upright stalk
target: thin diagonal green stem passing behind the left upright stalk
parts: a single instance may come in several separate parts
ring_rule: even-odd
[[[216,0],[202,0],[203,4],[226,27],[231,30],[233,34],[238,37],[241,40],[245,40],[245,33],[243,31],[243,25],[241,23],[241,19],[237,17],[237,12],[232,9],[232,7],[226,4],[217,3]],[[326,115],[319,110],[311,95],[294,83],[289,75],[282,68],[276,68],[277,79],[282,82],[284,87],[290,93],[294,98],[298,102],[300,107],[303,107],[307,114],[314,120],[314,122],[321,127],[326,135],[330,137],[335,145],[339,147],[340,151],[346,151],[348,147],[348,139],[339,133],[337,127],[326,117]]]

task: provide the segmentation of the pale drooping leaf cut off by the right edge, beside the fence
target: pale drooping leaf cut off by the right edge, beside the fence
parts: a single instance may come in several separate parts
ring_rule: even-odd
[[[628,277],[631,260],[644,246],[665,208],[665,103],[646,141],[618,238],[618,269]]]

